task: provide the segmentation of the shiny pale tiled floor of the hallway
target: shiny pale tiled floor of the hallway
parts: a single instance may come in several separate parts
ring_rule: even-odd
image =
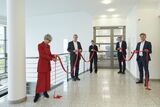
[[[129,74],[119,75],[117,70],[99,70],[98,74],[85,73],[81,81],[65,83],[57,88],[63,97],[41,99],[35,104],[33,97],[27,102],[10,105],[0,103],[0,107],[160,107],[160,82],[150,83],[151,91],[144,85],[135,84]]]

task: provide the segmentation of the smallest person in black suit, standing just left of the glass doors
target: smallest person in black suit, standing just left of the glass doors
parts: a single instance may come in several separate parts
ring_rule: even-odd
[[[92,73],[92,64],[94,62],[95,73],[97,73],[97,51],[98,47],[95,45],[94,40],[91,41],[92,45],[89,46],[90,57],[94,53],[93,58],[90,61],[90,73]]]

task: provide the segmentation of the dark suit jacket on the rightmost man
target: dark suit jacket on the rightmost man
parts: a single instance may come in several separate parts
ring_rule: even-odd
[[[137,47],[136,47],[136,50],[137,50],[137,51],[140,50],[140,45],[141,45],[141,42],[139,42],[139,43],[137,44]],[[148,60],[150,61],[150,60],[151,60],[150,54],[152,53],[152,44],[151,44],[151,42],[145,41],[143,50],[145,50],[145,49],[148,49],[148,50],[149,50]],[[140,57],[140,56],[139,56],[139,53],[137,53],[137,60],[139,59],[139,57]],[[143,52],[143,58],[144,58],[144,60],[146,60],[146,52]]]

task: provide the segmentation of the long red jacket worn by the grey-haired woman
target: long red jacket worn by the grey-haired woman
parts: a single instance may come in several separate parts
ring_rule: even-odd
[[[50,61],[54,58],[54,55],[50,52],[50,46],[44,42],[38,45],[39,60],[38,60],[38,72],[49,72],[51,71]]]

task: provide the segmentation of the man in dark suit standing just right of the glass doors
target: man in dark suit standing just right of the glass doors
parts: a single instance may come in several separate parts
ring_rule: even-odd
[[[127,49],[127,44],[125,41],[122,40],[122,36],[119,36],[118,38],[118,42],[116,44],[116,50],[117,50],[117,56],[118,56],[118,62],[119,62],[119,72],[118,73],[122,73],[125,74],[125,70],[126,70],[126,49]],[[123,69],[122,69],[122,62],[123,62]]]

